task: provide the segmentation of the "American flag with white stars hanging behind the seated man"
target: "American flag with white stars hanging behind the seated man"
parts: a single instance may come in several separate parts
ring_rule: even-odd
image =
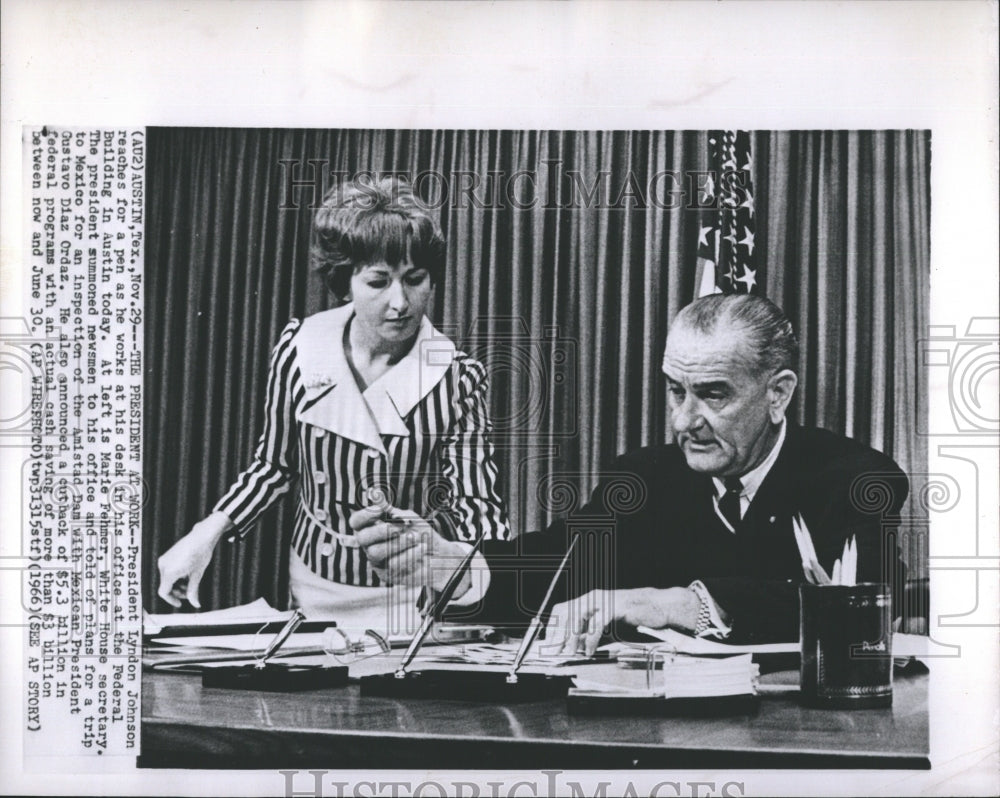
[[[764,272],[754,250],[754,196],[750,133],[711,130],[711,166],[698,204],[704,208],[698,225],[695,296],[762,294]]]

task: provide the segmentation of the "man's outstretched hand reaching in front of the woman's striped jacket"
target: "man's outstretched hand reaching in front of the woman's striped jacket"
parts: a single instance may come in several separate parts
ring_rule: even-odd
[[[394,585],[440,590],[468,552],[409,510],[373,505],[355,511],[348,523],[375,572]],[[471,586],[466,573],[453,598]]]

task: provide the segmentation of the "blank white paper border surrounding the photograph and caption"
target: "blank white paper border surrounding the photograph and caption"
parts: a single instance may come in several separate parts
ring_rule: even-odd
[[[932,132],[929,338],[992,331],[997,250],[997,4],[943,2],[247,2],[8,0],[2,9],[0,316],[25,315],[21,131],[73,127],[882,129]],[[951,338],[949,339],[949,335]],[[987,342],[990,340],[986,336]],[[977,396],[996,419],[998,370]],[[745,795],[995,794],[998,784],[997,442],[952,429],[948,374],[930,383],[930,468],[973,459],[979,542],[932,526],[931,629],[962,646],[934,662],[932,770],[674,772]],[[20,454],[0,451],[0,495]],[[965,456],[963,455],[963,456]],[[13,510],[13,511],[12,511]],[[20,535],[4,503],[0,557]],[[964,536],[963,536],[964,537]],[[970,571],[977,587],[969,588]],[[976,590],[978,589],[978,594]],[[971,590],[971,592],[970,592]],[[20,574],[0,567],[0,791],[284,794],[263,772],[135,770],[130,761],[23,771]],[[969,615],[966,625],[962,616]],[[984,609],[985,608],[985,609]],[[411,774],[414,783],[426,773]],[[621,774],[646,788],[657,774]],[[662,775],[662,774],[661,774]],[[81,777],[84,777],[81,778]],[[338,779],[370,779],[342,772]],[[391,779],[405,780],[393,772]],[[575,774],[587,794],[607,774]],[[539,774],[448,774],[513,784]],[[484,793],[489,794],[484,787]],[[525,794],[531,794],[530,791]],[[704,794],[704,793],[702,793]]]

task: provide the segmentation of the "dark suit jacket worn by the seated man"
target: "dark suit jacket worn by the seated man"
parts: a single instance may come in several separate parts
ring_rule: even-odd
[[[570,536],[580,535],[556,602],[593,588],[665,588],[700,579],[730,615],[732,642],[796,640],[803,581],[792,533],[797,513],[827,573],[856,535],[858,581],[889,583],[901,607],[905,574],[896,523],[909,482],[890,458],[856,441],[789,422],[735,533],[715,514],[711,478],[688,468],[675,445],[622,455],[601,477],[584,507],[544,532],[490,542],[489,618],[503,624],[530,616]]]

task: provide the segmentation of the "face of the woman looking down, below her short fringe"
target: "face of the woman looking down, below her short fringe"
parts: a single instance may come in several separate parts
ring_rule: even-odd
[[[351,277],[356,322],[375,339],[407,341],[420,329],[432,290],[427,269],[412,263],[361,266]]]

